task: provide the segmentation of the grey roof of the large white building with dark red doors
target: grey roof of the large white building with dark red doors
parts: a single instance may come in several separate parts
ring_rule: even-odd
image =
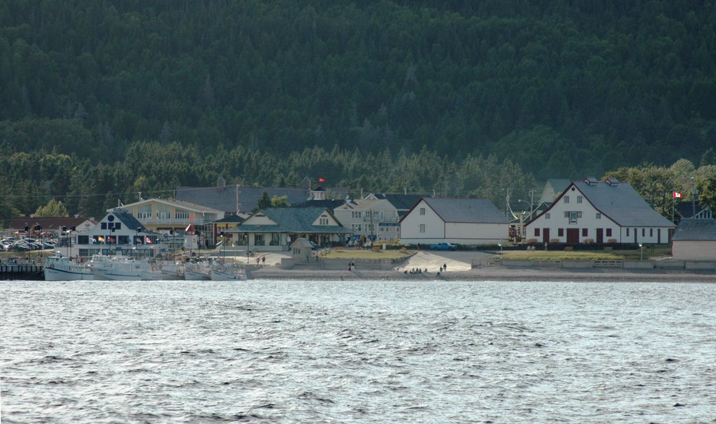
[[[631,184],[626,182],[621,182],[619,185],[604,182],[596,185],[585,182],[573,184],[599,212],[621,227],[674,227],[671,221],[652,209]],[[569,187],[567,189],[569,190]]]

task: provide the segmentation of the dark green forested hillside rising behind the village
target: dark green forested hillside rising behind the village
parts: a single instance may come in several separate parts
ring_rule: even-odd
[[[3,0],[1,215],[219,176],[500,204],[714,164],[715,26],[687,0]]]

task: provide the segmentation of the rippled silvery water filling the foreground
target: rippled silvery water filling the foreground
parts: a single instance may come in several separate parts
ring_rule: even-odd
[[[716,285],[0,282],[7,423],[716,423]]]

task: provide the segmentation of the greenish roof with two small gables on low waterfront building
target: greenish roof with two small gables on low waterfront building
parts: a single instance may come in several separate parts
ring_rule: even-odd
[[[252,217],[262,213],[266,215],[270,220],[276,222],[271,225],[251,225],[246,221],[251,220],[248,218],[245,222],[242,222],[237,227],[229,229],[229,231],[236,232],[315,232],[315,233],[350,233],[342,225],[314,225],[314,222],[322,214],[328,214],[336,222],[336,218],[333,216],[329,209],[324,207],[269,207],[263,209],[256,214],[251,215]],[[340,224],[340,223],[339,223]]]

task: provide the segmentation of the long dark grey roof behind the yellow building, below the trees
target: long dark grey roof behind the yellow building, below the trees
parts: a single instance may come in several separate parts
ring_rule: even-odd
[[[288,196],[289,204],[304,202],[309,198],[309,192],[304,189],[281,187],[238,187],[239,211],[236,210],[236,186],[228,187],[180,187],[176,191],[176,199],[183,202],[200,204],[212,207],[223,212],[235,214],[236,212],[253,212],[258,207],[258,199],[263,191],[269,197]]]

